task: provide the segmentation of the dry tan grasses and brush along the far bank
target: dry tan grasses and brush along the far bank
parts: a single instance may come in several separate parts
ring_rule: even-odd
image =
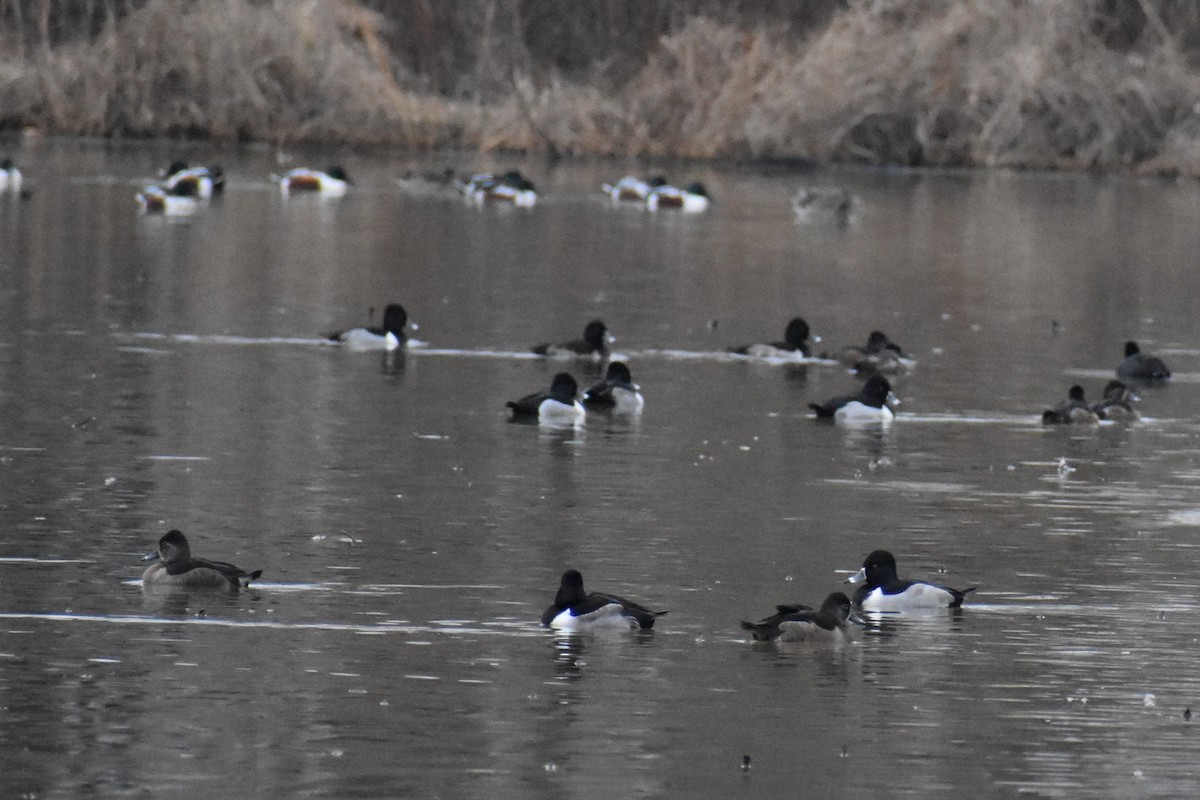
[[[0,0],[0,126],[1200,175],[1182,0]]]

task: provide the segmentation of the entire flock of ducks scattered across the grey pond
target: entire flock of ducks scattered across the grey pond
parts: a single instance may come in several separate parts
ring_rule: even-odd
[[[5,158],[0,161],[0,193],[20,193],[22,173]],[[316,192],[341,196],[352,181],[346,170],[330,167],[325,170],[308,168],[292,169],[272,176],[282,192]],[[412,176],[403,180],[413,180]],[[455,179],[449,172],[438,176],[420,176],[420,180],[454,182],[466,198],[476,203],[503,201],[517,206],[532,206],[538,200],[534,185],[518,172],[503,174],[478,174],[464,180]],[[190,213],[197,204],[211,198],[224,187],[224,174],[220,167],[188,167],[175,162],[162,174],[161,182],[148,186],[138,193],[138,203],[148,213]],[[616,203],[642,203],[650,210],[660,207],[680,209],[688,212],[703,211],[710,199],[700,184],[686,188],[668,185],[661,178],[642,180],[625,176],[614,184],[605,184],[605,194]],[[842,191],[822,193],[802,190],[793,199],[797,212],[814,207],[830,210],[835,216],[850,213],[853,198]],[[408,342],[408,314],[400,303],[384,308],[380,326],[350,327],[328,333],[328,338],[350,349],[395,350]],[[884,373],[894,373],[911,366],[912,360],[904,350],[881,331],[872,331],[866,344],[844,348],[834,354],[814,356],[809,342],[810,330],[803,318],[788,321],[784,338],[775,342],[751,343],[730,348],[728,351],[751,357],[821,357],[836,360],[865,375],[863,389],[857,395],[835,397],[824,403],[810,403],[818,419],[836,421],[889,421],[892,386]],[[547,357],[588,359],[605,362],[610,360],[608,344],[612,335],[601,320],[592,320],[578,339],[545,343],[533,348],[533,353]],[[1138,399],[1129,384],[1153,385],[1168,380],[1170,369],[1162,359],[1141,353],[1136,342],[1127,342],[1124,356],[1116,368],[1117,379],[1110,380],[1103,398],[1088,403],[1084,389],[1070,387],[1068,397],[1042,415],[1045,425],[1087,425],[1100,420],[1134,420],[1138,411],[1133,401]],[[1127,383],[1128,381],[1128,383]],[[624,361],[611,361],[605,379],[580,393],[578,384],[568,372],[553,377],[546,391],[527,395],[508,403],[514,420],[538,422],[577,423],[589,410],[638,414],[644,405],[638,386],[632,381],[629,366]],[[157,549],[146,557],[155,563],[142,576],[146,588],[168,589],[218,589],[236,591],[257,579],[262,571],[245,571],[224,561],[193,558],[187,539],[179,530],[170,530],[158,540]],[[850,622],[862,622],[858,612],[904,612],[922,608],[959,608],[966,595],[974,588],[958,590],[926,581],[906,581],[898,576],[895,558],[887,551],[875,551],[863,561],[862,569],[847,583],[860,583],[853,596],[841,591],[828,595],[818,608],[803,603],[785,603],[775,613],[757,621],[742,621],[742,627],[755,640],[810,640],[846,636]],[[557,630],[580,630],[601,625],[647,630],[666,614],[625,597],[604,593],[588,593],[583,588],[583,576],[577,570],[563,573],[554,601],[541,615],[541,624]]]

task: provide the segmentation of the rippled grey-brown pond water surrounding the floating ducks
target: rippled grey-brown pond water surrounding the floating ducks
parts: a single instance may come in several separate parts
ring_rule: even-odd
[[[676,164],[715,198],[678,216],[611,207],[619,163],[521,163],[544,197],[517,210],[396,182],[491,157],[292,152],[355,179],[320,201],[281,197],[268,151],[10,152],[32,196],[0,197],[7,796],[1200,792],[1194,184]],[[224,196],[140,215],[180,156]],[[797,222],[805,185],[856,217]],[[407,357],[322,341],[391,301]],[[892,425],[810,419],[860,384],[835,363],[724,355],[797,314],[822,348],[911,351]],[[644,413],[510,423],[554,372],[599,375],[527,356],[596,317]],[[1129,338],[1176,373],[1142,419],[1044,428]],[[144,593],[170,528],[263,579]],[[739,630],[876,548],[978,590],[838,646]],[[670,614],[557,638],[568,567]]]

